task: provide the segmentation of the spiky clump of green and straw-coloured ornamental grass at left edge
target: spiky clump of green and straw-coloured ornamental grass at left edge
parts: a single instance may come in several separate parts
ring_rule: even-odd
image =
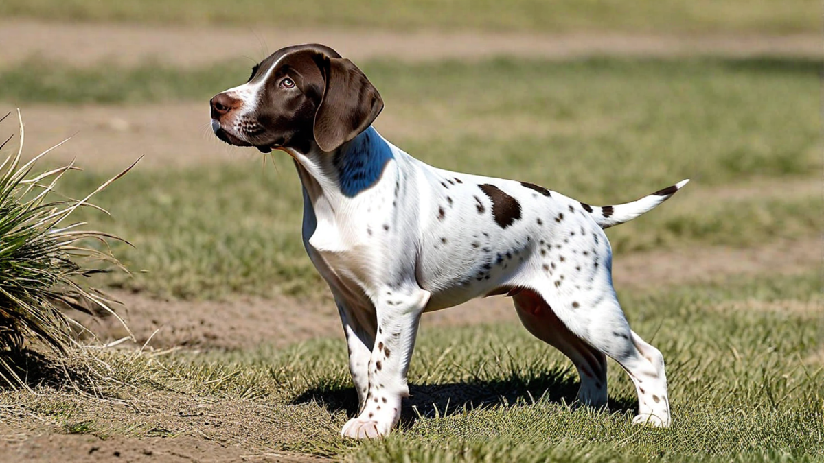
[[[69,217],[78,208],[97,208],[88,202],[91,196],[134,165],[86,198],[59,196],[54,191],[59,180],[79,170],[73,162],[39,174],[33,171],[37,161],[68,140],[21,163],[24,129],[19,110],[17,116],[19,148],[0,163],[0,386],[28,389],[24,378],[33,367],[30,359],[44,358],[42,353],[65,359],[82,351],[77,332],[88,330],[68,316],[67,309],[115,316],[123,323],[110,307],[113,301],[84,281],[112,269],[126,271],[109,247],[110,241],[123,240],[87,230],[86,222],[70,222]]]

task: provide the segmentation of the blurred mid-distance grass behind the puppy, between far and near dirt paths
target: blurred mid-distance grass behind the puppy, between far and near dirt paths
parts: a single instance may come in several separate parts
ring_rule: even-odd
[[[609,232],[620,254],[817,234],[824,219],[812,173],[822,163],[812,95],[820,65],[592,58],[363,68],[386,101],[378,129],[436,166],[527,180],[593,204],[691,178],[660,209]],[[7,68],[0,100],[206,101],[241,82],[244,68]],[[129,268],[147,270],[111,283],[185,298],[315,292],[320,279],[300,242],[297,175],[287,157],[275,153],[274,163],[138,169],[117,192],[101,194],[101,206],[115,212],[106,227],[136,246],[116,252]],[[101,180],[92,172],[65,188],[71,194]]]

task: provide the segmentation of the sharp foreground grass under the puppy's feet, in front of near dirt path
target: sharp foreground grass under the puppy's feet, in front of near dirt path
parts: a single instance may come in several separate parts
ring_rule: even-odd
[[[377,442],[337,437],[355,395],[344,343],[328,339],[165,357],[103,352],[110,383],[98,392],[128,405],[53,391],[9,407],[16,396],[0,393],[0,417],[13,425],[34,414],[101,436],[160,428],[215,438],[209,421],[226,413],[241,429],[218,442],[348,461],[821,461],[824,365],[808,360],[822,348],[819,286],[811,273],[621,293],[634,330],[667,359],[667,430],[630,426],[634,391],[614,363],[610,409],[569,409],[569,362],[508,323],[424,329],[402,431]],[[177,417],[198,409],[204,418]]]

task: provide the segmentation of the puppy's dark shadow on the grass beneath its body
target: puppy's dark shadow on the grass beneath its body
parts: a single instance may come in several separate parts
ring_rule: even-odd
[[[416,386],[410,384],[410,397],[403,400],[400,421],[409,427],[419,418],[447,417],[465,411],[495,405],[529,406],[536,400],[556,404],[573,404],[578,393],[578,381],[564,367],[557,367],[537,376],[509,376],[500,380],[453,382]],[[354,387],[315,387],[292,400],[293,405],[314,402],[331,414],[344,411],[352,417],[358,413],[358,394]],[[610,413],[636,408],[637,402],[627,398],[611,398]]]

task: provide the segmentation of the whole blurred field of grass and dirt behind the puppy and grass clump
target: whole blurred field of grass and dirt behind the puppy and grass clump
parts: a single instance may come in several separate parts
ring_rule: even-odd
[[[610,232],[616,280],[644,287],[817,266],[820,12],[811,0],[5,0],[0,107],[21,108],[29,155],[72,137],[47,161],[85,169],[65,194],[144,156],[97,199],[112,217],[82,216],[134,245],[115,246],[133,276],[102,284],[132,307],[138,337],[166,326],[157,343],[288,343],[338,331],[300,243],[297,175],[283,153],[228,147],[208,128],[208,99],[268,54],[320,42],[353,59],[386,102],[377,129],[439,167],[594,204],[691,178]],[[13,133],[12,118],[0,129]],[[317,315],[294,320],[302,334],[260,327],[296,304]],[[511,317],[503,304],[496,316]],[[442,317],[466,322],[456,314]],[[195,328],[227,323],[235,340]]]

